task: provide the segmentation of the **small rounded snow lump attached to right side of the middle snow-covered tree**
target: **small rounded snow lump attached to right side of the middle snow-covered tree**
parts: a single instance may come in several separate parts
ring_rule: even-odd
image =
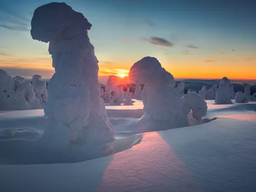
[[[183,100],[183,110],[186,114],[192,111],[192,117],[197,120],[201,120],[201,118],[206,115],[207,103],[201,95],[188,93],[181,99]]]

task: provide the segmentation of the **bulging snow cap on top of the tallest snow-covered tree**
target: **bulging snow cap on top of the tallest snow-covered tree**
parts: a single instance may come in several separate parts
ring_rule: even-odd
[[[31,20],[33,39],[49,42],[53,39],[74,38],[92,25],[82,13],[76,12],[66,3],[49,3],[38,7]]]

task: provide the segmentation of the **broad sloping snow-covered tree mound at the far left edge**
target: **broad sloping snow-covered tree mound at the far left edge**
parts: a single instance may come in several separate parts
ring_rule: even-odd
[[[0,70],[0,111],[41,109],[30,82],[17,79]]]

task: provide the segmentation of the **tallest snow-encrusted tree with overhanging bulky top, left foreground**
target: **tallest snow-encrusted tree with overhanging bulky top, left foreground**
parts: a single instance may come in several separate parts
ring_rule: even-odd
[[[31,21],[32,38],[49,42],[55,68],[48,83],[44,106],[48,125],[43,137],[66,134],[54,146],[58,151],[72,141],[83,148],[93,145],[102,153],[112,153],[115,133],[100,98],[98,60],[88,36],[91,27],[82,13],[65,3],[38,7]]]

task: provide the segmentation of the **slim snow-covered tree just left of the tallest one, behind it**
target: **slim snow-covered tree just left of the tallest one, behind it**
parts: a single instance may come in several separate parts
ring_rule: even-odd
[[[40,105],[44,106],[47,102],[46,82],[41,80],[40,75],[33,75],[32,86],[34,88],[35,96],[39,100]]]

